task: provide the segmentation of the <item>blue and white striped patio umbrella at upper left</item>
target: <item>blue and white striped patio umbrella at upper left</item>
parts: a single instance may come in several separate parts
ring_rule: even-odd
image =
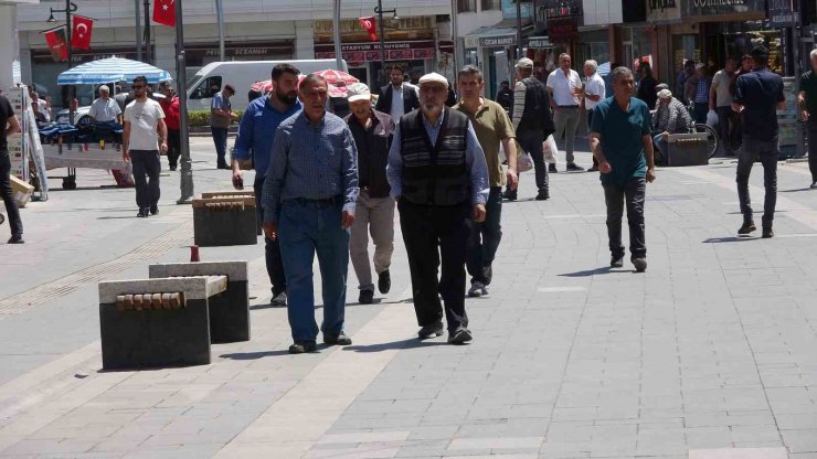
[[[148,83],[169,81],[170,74],[161,68],[139,61],[123,57],[108,57],[78,65],[60,74],[60,85],[95,85],[114,82],[129,82],[145,76]]]

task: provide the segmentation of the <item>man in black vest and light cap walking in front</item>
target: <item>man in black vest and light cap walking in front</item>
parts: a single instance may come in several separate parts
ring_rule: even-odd
[[[473,221],[485,221],[488,168],[473,124],[445,106],[447,94],[443,75],[420,78],[421,108],[400,118],[386,172],[408,254],[417,334],[443,334],[442,295],[448,342],[463,344],[473,338],[465,312],[468,238]]]

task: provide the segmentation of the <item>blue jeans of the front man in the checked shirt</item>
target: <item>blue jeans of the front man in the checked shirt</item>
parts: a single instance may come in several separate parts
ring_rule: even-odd
[[[318,254],[323,293],[323,334],[343,331],[346,282],[349,268],[349,231],[340,224],[342,199],[333,201],[287,200],[278,218],[280,255],[286,266],[287,312],[293,340],[314,341],[312,261]]]

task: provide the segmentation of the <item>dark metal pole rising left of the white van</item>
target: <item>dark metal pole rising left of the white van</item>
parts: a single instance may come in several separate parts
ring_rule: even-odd
[[[181,138],[181,196],[177,204],[184,204],[193,198],[193,162],[190,159],[188,132],[188,75],[184,53],[184,26],[182,25],[182,0],[176,0],[176,78],[179,90],[179,137]]]

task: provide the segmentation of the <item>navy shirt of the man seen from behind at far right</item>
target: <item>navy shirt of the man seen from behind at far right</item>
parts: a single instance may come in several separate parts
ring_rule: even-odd
[[[777,103],[785,102],[783,78],[763,68],[741,75],[734,102],[743,106],[743,136],[761,141],[777,139]]]

